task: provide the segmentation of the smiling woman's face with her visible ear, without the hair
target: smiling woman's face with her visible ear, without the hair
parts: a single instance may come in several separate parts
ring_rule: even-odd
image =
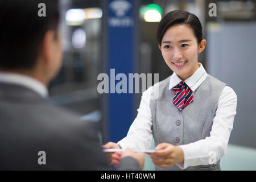
[[[199,68],[198,53],[204,51],[206,40],[197,43],[193,30],[186,24],[176,24],[165,32],[159,49],[166,64],[181,80],[193,75]]]

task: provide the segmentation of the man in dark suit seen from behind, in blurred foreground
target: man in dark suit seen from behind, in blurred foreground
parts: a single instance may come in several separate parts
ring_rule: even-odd
[[[57,1],[0,1],[0,170],[111,169],[92,123],[45,99],[61,66],[58,22]],[[126,150],[118,169],[143,163],[142,154]]]

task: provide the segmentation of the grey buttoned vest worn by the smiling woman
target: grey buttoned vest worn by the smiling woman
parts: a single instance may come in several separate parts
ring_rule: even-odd
[[[181,111],[172,103],[174,92],[168,89],[169,84],[170,77],[159,82],[159,97],[150,101],[155,146],[163,142],[177,146],[209,137],[218,99],[226,84],[208,75],[193,92],[193,102]],[[177,165],[155,169],[180,170]],[[216,164],[188,167],[185,170],[220,170],[220,160]]]

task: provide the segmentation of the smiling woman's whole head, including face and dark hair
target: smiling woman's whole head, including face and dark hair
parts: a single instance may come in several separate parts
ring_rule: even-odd
[[[200,20],[187,11],[172,11],[159,23],[159,49],[168,67],[181,80],[199,68],[198,53],[204,51],[206,45],[202,32]]]

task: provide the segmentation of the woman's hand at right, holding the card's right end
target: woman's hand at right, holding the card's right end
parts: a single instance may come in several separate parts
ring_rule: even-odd
[[[172,167],[176,163],[184,161],[183,150],[179,146],[170,143],[160,143],[155,147],[156,152],[150,155],[155,166],[160,168]]]

